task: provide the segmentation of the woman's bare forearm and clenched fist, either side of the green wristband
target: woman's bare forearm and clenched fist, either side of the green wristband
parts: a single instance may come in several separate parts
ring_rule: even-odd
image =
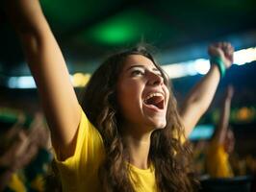
[[[220,58],[225,68],[229,68],[233,62],[234,49],[230,43],[220,42],[209,46],[210,57]],[[220,73],[218,65],[212,63],[209,72],[192,87],[192,91],[186,98],[180,109],[181,119],[185,127],[185,134],[188,137],[200,117],[209,108],[216,93]]]

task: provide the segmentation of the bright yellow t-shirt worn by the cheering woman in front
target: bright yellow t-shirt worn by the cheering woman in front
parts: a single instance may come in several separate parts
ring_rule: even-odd
[[[104,159],[104,154],[102,137],[82,110],[74,155],[64,161],[56,157],[63,191],[101,192],[104,186],[100,186],[98,168]],[[146,170],[141,170],[131,164],[128,166],[136,191],[156,191],[155,172],[152,166]]]

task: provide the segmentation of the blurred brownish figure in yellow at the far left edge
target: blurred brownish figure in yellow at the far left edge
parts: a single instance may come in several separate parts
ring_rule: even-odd
[[[25,115],[20,113],[12,127],[1,127],[1,131],[5,132],[1,132],[0,141],[0,191],[26,191],[25,183],[18,172],[36,156],[37,146],[30,143],[29,136],[23,129],[24,122]]]

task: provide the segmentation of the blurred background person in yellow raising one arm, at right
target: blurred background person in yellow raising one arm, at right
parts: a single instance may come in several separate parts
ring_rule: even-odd
[[[206,152],[206,170],[212,178],[232,178],[233,170],[229,155],[234,151],[234,132],[229,127],[233,86],[229,85],[223,97],[218,126],[211,138]]]

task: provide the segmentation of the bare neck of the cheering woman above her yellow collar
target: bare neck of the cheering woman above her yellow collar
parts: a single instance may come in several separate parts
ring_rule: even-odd
[[[123,140],[127,147],[130,157],[130,163],[140,169],[147,169],[149,167],[148,154],[150,148],[151,132],[138,134],[125,133]]]

